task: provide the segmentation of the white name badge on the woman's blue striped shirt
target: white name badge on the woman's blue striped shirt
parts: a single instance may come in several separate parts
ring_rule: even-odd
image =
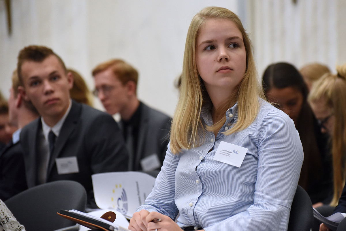
[[[246,152],[247,148],[221,141],[213,159],[239,168]]]

